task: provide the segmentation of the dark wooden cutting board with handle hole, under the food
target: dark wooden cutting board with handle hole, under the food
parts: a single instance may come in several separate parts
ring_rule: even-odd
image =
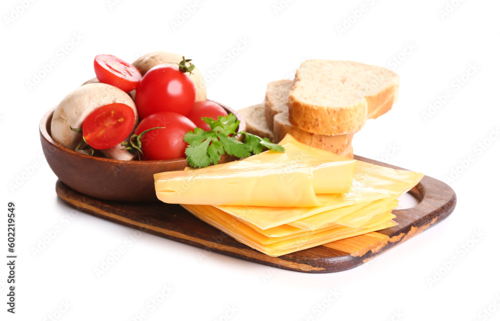
[[[372,159],[356,159],[398,168]],[[267,256],[194,217],[180,205],[161,201],[124,203],[101,200],[81,194],[61,181],[57,195],[84,212],[155,235],[202,249],[265,264],[308,273],[338,272],[356,267],[389,248],[404,242],[448,216],[456,205],[456,195],[447,184],[429,176],[409,192],[419,203],[392,211],[396,226],[349,237],[278,257]]]

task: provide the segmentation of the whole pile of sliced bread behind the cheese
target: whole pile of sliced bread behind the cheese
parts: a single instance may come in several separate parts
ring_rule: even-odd
[[[294,80],[267,84],[262,103],[240,109],[246,130],[280,141],[287,133],[309,146],[352,157],[352,136],[397,101],[399,76],[353,61],[306,60]]]

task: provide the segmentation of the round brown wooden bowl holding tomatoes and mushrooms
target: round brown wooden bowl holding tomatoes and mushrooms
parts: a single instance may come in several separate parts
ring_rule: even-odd
[[[240,121],[238,130],[245,130],[243,117],[237,111],[220,105]],[[185,158],[124,161],[88,156],[66,148],[50,136],[54,109],[40,120],[41,147],[48,165],[59,180],[80,193],[108,200],[151,201],[156,199],[153,174],[187,167]],[[220,162],[235,159],[223,155]]]

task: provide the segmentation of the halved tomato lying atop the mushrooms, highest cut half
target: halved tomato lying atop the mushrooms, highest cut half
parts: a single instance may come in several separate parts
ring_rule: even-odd
[[[136,67],[111,54],[96,55],[94,71],[100,82],[111,84],[125,92],[135,89],[142,77]]]

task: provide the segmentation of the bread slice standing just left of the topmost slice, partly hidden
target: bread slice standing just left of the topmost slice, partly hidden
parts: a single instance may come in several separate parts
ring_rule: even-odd
[[[265,121],[271,130],[274,130],[275,115],[286,112],[286,116],[288,116],[288,95],[292,86],[293,80],[290,79],[271,81],[267,84],[264,99]],[[281,138],[277,139],[277,141],[281,140]]]

